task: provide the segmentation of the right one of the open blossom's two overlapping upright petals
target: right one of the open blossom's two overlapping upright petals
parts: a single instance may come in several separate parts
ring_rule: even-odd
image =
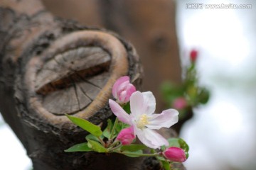
[[[146,91],[142,93],[144,98],[144,113],[151,115],[156,110],[156,98],[151,91]]]

